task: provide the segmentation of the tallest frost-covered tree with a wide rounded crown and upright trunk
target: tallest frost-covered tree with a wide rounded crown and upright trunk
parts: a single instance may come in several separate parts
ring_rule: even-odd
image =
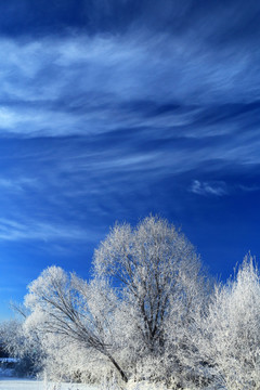
[[[134,229],[117,224],[94,253],[94,274],[118,287],[125,302],[121,321],[131,324],[128,334],[134,335],[130,346],[138,369],[144,359],[146,370],[150,361],[158,375],[166,350],[174,361],[170,369],[183,369],[173,349],[179,355],[185,349],[179,335],[191,327],[206,294],[199,257],[184,234],[158,217],[145,218]]]

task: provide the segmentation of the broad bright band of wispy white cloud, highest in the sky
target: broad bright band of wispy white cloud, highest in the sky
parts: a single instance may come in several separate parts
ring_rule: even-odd
[[[260,96],[253,82],[259,62],[247,49],[211,50],[190,34],[1,38],[0,50],[6,54],[0,64],[2,134],[87,135],[140,127],[185,131],[202,113],[198,104]],[[197,107],[158,115],[133,109],[134,101]]]

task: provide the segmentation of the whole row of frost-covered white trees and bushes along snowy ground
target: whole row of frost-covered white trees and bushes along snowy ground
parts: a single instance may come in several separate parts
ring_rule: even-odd
[[[50,379],[117,378],[172,389],[260,389],[260,280],[248,256],[209,281],[186,237],[148,217],[116,225],[84,281],[57,266],[28,286],[25,320],[0,338]]]

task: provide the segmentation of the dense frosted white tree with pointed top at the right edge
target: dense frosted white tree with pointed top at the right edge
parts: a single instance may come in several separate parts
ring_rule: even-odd
[[[216,386],[260,389],[260,274],[250,255],[233,281],[216,288],[202,336]]]

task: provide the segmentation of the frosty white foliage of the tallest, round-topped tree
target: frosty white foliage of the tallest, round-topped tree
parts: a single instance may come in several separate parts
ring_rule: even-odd
[[[164,346],[171,303],[182,301],[188,310],[188,283],[196,280],[199,289],[203,285],[194,247],[157,217],[145,218],[135,229],[116,225],[95,251],[94,270],[118,283],[128,318],[135,325],[139,348],[150,352]]]

